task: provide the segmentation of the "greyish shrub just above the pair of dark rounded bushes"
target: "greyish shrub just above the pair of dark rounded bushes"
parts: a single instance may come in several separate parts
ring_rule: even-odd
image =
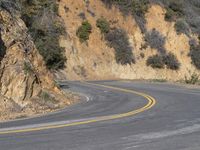
[[[165,54],[165,41],[166,38],[160,34],[157,30],[153,29],[145,34],[145,41],[151,48],[157,49],[158,53]]]

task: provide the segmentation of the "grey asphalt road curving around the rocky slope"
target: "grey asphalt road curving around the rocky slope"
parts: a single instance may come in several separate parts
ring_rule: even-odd
[[[82,101],[0,123],[0,150],[200,150],[200,89],[129,81],[61,86]]]

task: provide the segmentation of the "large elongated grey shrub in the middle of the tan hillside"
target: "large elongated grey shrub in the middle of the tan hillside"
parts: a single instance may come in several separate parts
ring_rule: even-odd
[[[135,63],[132,47],[124,30],[114,29],[106,34],[105,39],[108,41],[109,46],[115,49],[115,59],[118,64],[127,65]]]

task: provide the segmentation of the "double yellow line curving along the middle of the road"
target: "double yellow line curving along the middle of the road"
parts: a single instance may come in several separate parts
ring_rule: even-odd
[[[88,85],[95,85],[95,86],[99,86],[99,87],[104,87],[104,88],[109,88],[109,89],[113,89],[113,90],[121,91],[121,92],[125,92],[125,93],[136,94],[136,95],[139,95],[139,96],[146,98],[148,100],[148,103],[145,106],[143,106],[142,108],[139,108],[137,110],[133,110],[133,111],[130,111],[130,112],[127,112],[127,113],[96,117],[95,119],[87,119],[85,121],[78,121],[78,122],[66,123],[66,124],[61,124],[61,125],[47,125],[47,126],[35,127],[35,128],[0,131],[0,135],[33,132],[33,131],[41,131],[41,130],[48,130],[48,129],[58,129],[58,128],[63,128],[63,127],[90,124],[90,123],[95,123],[95,122],[100,122],[100,121],[120,119],[120,118],[130,117],[130,116],[136,115],[138,113],[144,112],[144,111],[152,108],[156,104],[156,100],[153,97],[151,97],[150,95],[147,95],[145,93],[137,92],[137,91],[134,91],[134,90],[122,89],[122,88],[118,88],[118,87],[101,85],[101,84],[94,84],[94,83],[88,83],[88,82],[82,82],[82,83],[88,84]]]

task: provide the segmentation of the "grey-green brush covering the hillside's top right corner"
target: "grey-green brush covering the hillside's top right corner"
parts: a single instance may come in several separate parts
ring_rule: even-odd
[[[177,21],[183,19],[193,33],[200,34],[199,0],[102,0],[106,5],[117,6],[125,15],[133,14],[142,32],[145,32],[144,15],[149,4],[156,3],[166,8],[165,19]],[[188,29],[187,29],[188,30]],[[185,32],[184,32],[185,33]]]

